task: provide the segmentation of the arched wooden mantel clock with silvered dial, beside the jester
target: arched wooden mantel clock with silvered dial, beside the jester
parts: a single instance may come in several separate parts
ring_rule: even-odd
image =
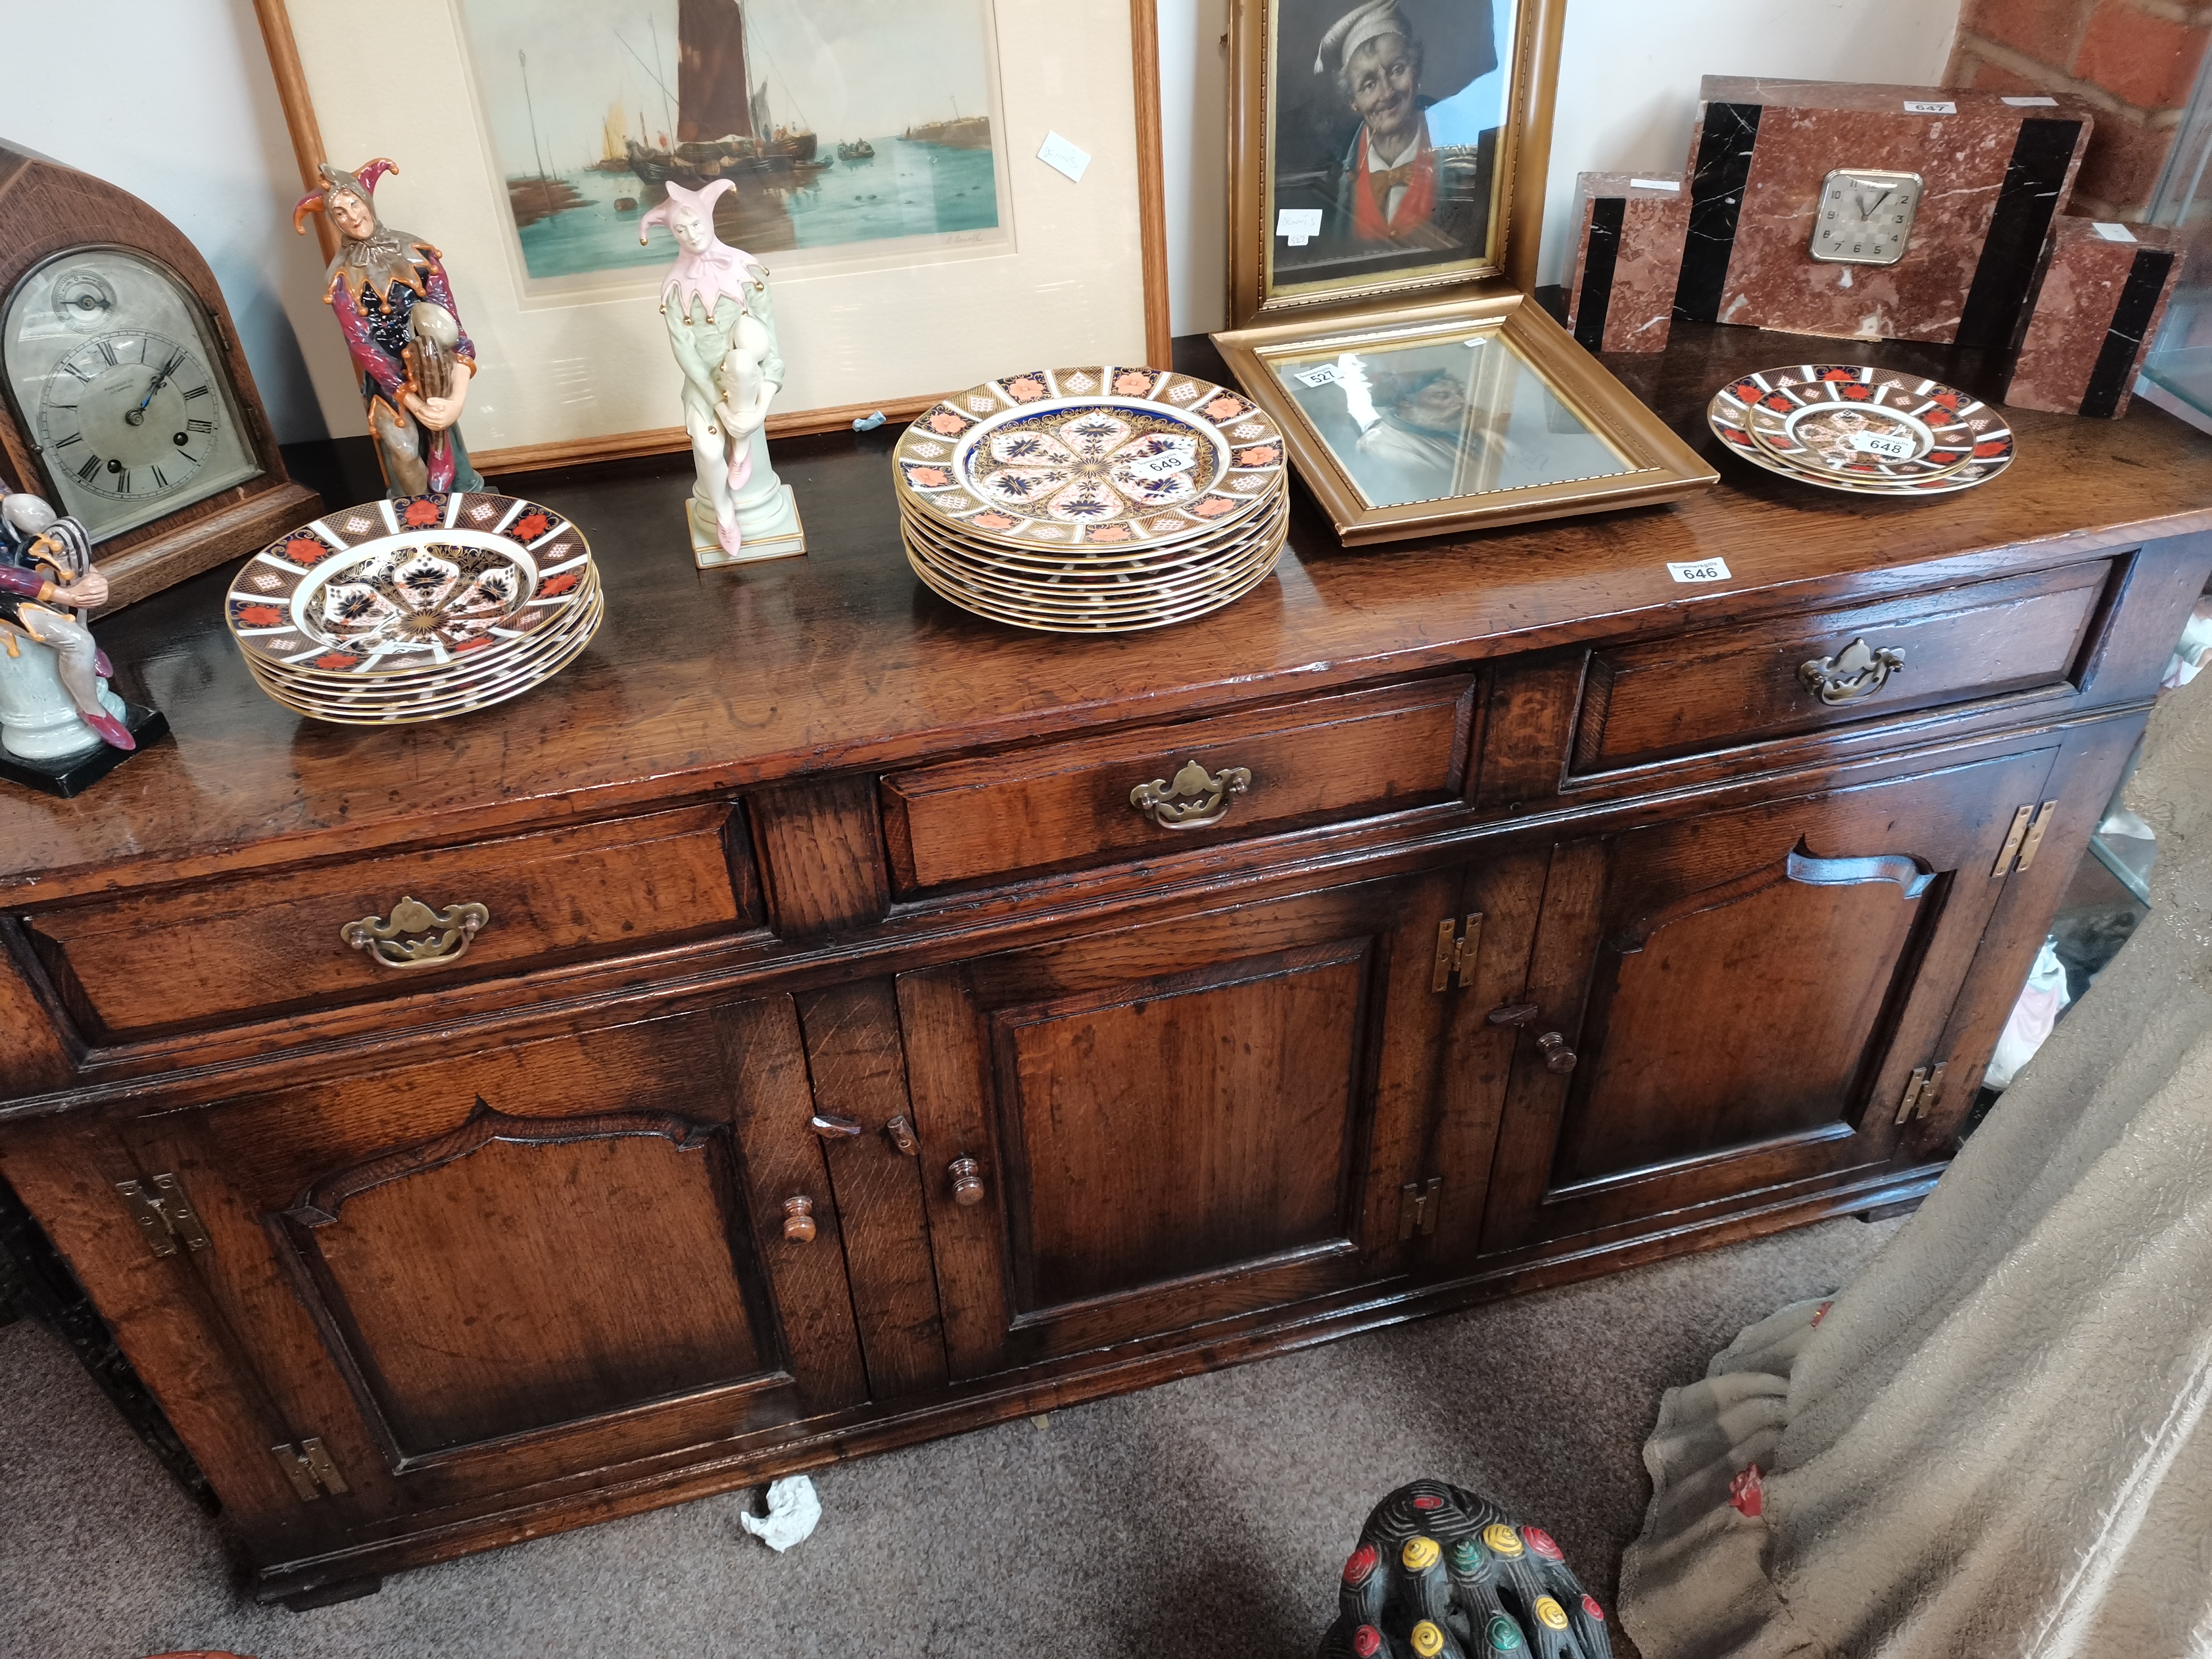
[[[111,606],[321,511],[208,263],[133,195],[0,146],[0,476],[93,535]]]

